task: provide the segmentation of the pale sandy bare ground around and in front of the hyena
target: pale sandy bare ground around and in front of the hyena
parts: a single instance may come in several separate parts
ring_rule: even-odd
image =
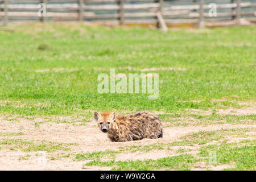
[[[71,119],[72,118],[63,118]],[[74,118],[75,119],[75,118]],[[44,121],[44,120],[43,120]],[[153,143],[170,143],[176,141],[178,138],[199,132],[199,131],[212,131],[220,129],[237,129],[243,127],[256,127],[256,125],[211,125],[211,126],[189,126],[189,127],[168,127],[164,128],[163,138],[159,139],[143,139],[132,142],[110,142],[107,134],[102,133],[96,122],[88,122],[85,125],[72,125],[70,123],[56,123],[56,122],[42,122],[38,127],[35,127],[35,122],[40,122],[40,118],[36,119],[10,119],[6,120],[5,117],[0,117],[0,132],[22,132],[23,135],[12,136],[8,138],[22,139],[27,141],[33,141],[40,143],[40,140],[46,140],[49,142],[57,143],[78,143],[78,145],[68,146],[70,151],[65,151],[65,154],[71,153],[84,154],[86,152],[93,151],[105,151],[105,150],[119,150],[119,147],[134,146],[134,145],[148,145]],[[1,138],[0,138],[1,139]],[[174,150],[175,151],[175,150]],[[148,151],[144,154],[137,154],[136,152],[125,152],[118,154],[117,159],[156,159],[166,156],[176,155],[174,151]],[[6,148],[0,150],[0,169],[14,169],[14,170],[69,170],[69,169],[84,169],[82,165],[85,161],[74,160],[73,157],[61,158],[57,160],[50,160],[52,155],[60,153],[46,152],[47,164],[46,166],[40,166],[38,158],[40,156],[32,155],[27,160],[19,160],[20,156],[30,154],[30,152],[24,151],[10,151]],[[99,167],[86,167],[85,169],[109,169]]]

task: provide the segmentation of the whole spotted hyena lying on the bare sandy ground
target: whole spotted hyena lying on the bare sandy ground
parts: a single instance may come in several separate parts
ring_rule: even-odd
[[[108,133],[112,142],[126,142],[143,138],[162,138],[163,123],[149,111],[139,111],[126,116],[115,112],[94,113],[94,119],[101,131]]]

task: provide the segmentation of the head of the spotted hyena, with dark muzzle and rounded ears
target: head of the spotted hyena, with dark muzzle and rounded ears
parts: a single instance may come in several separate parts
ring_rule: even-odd
[[[104,112],[104,113],[94,113],[94,119],[96,120],[98,127],[104,133],[108,132],[113,126],[113,122],[115,121],[115,111],[112,113]]]

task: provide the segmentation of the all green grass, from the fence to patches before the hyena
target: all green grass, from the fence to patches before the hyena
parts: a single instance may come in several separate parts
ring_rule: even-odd
[[[114,152],[102,148],[82,154],[72,149],[77,145],[68,145],[65,139],[57,141],[66,143],[64,146],[40,137],[35,137],[35,143],[26,138],[26,126],[17,124],[9,128],[3,124],[23,122],[21,118],[36,135],[41,125],[89,126],[94,110],[117,110],[123,114],[150,110],[159,113],[166,131],[171,131],[171,127],[189,129],[222,124],[254,128],[256,26],[180,29],[167,34],[149,28],[75,23],[33,23],[8,28],[14,32],[0,27],[0,126],[5,128],[0,133],[0,152],[20,151],[23,153],[19,159],[29,159],[32,154],[27,152],[43,150],[49,152],[47,157],[52,161],[72,158],[84,161],[88,167],[189,170],[198,169],[199,164],[211,169],[208,153],[212,150],[217,154],[215,166],[228,165],[221,169],[256,169],[255,130],[232,133],[231,136],[239,138],[238,143],[224,140],[230,135],[220,135],[220,128],[217,133],[209,134],[214,135],[210,139],[203,133],[189,142],[185,138],[172,144],[163,141],[160,145],[131,142],[121,144]],[[148,94],[98,93],[97,77],[100,73],[110,75],[110,68],[115,68],[116,74],[142,73],[147,68],[168,69],[143,72],[159,73],[159,98],[148,100]],[[228,109],[229,113],[218,113]],[[249,134],[243,136],[245,133]],[[241,135],[245,140],[240,139]],[[210,143],[213,141],[217,143]],[[182,147],[194,144],[197,148]],[[175,155],[115,160],[115,155],[133,153],[131,150],[174,150]],[[193,150],[197,154],[191,153]],[[56,154],[57,151],[64,153]],[[110,159],[100,160],[105,155]]]

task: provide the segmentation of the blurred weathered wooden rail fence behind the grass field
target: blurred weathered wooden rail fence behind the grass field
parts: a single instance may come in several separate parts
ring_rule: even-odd
[[[176,2],[180,2],[177,5]],[[210,1],[213,2],[214,1]],[[165,28],[170,23],[241,24],[241,20],[256,22],[256,3],[253,1],[226,0],[209,6],[207,0],[0,0],[0,23],[22,20],[112,22],[115,24],[157,24]],[[46,16],[43,6],[46,5]],[[175,4],[176,3],[176,4]],[[209,11],[216,14],[210,16]],[[41,11],[42,10],[42,11]],[[226,11],[224,11],[226,10]]]

